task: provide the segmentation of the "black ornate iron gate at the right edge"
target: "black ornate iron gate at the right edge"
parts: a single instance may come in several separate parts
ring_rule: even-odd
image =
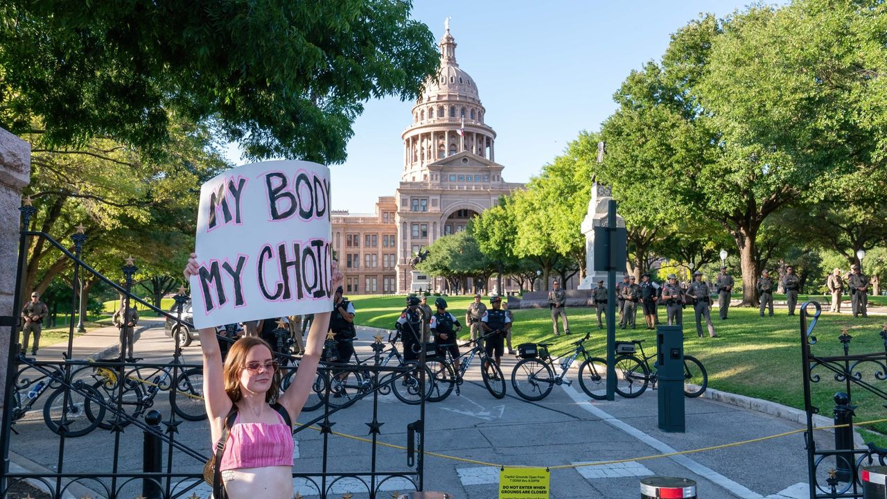
[[[812,314],[811,308],[815,309]],[[828,343],[813,335],[821,312],[817,302],[808,302],[801,307],[802,375],[807,413],[804,435],[810,497],[862,497],[861,468],[869,464],[885,464],[887,449],[878,448],[871,442],[864,448],[854,445],[853,416],[857,406],[853,402],[861,399],[860,403],[867,406],[883,408],[887,400],[887,386],[879,383],[887,379],[887,327],[880,332],[882,350],[852,354],[853,337],[846,329],[836,337],[829,337]],[[834,437],[815,432],[813,422],[813,416],[820,413],[816,402],[822,404],[829,400],[822,391],[814,392],[812,387],[821,387],[828,381],[834,382],[836,392],[834,396],[830,389],[825,393],[834,400],[833,417],[835,424],[841,425],[834,429]]]

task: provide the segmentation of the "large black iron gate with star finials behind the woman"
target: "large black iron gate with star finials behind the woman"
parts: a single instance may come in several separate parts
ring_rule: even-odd
[[[168,313],[160,310],[144,300],[136,297],[132,291],[132,278],[137,272],[137,267],[132,261],[123,265],[122,272],[125,277],[125,285],[120,286],[109,280],[104,275],[84,263],[81,259],[82,248],[87,240],[86,234],[78,231],[71,236],[74,242],[74,251],[66,249],[48,234],[31,231],[29,229],[31,218],[35,214],[35,208],[23,206],[21,209],[22,229],[20,231],[18,275],[14,309],[20,311],[22,304],[21,275],[27,261],[28,239],[40,236],[50,242],[56,249],[73,263],[72,289],[78,289],[81,273],[91,273],[101,281],[116,289],[125,297],[124,306],[127,310],[130,305],[138,303],[145,309],[153,310],[160,317],[166,317],[175,321],[173,334],[181,334],[182,325],[192,329],[193,326],[183,321],[183,305],[187,300],[184,294],[176,298],[176,313]],[[71,318],[68,331],[67,354],[59,360],[36,360],[19,351],[18,324],[12,325],[10,339],[9,364],[4,386],[6,401],[3,410],[2,425],[0,425],[0,448],[2,448],[3,466],[0,467],[0,498],[12,494],[16,486],[27,483],[27,487],[36,486],[42,489],[44,495],[53,499],[61,499],[63,496],[90,498],[97,496],[116,499],[171,499],[175,497],[188,497],[189,499],[202,499],[209,496],[208,487],[202,483],[202,464],[208,459],[209,446],[204,450],[189,447],[177,435],[191,424],[188,420],[199,419],[196,407],[202,406],[200,398],[200,383],[202,379],[200,365],[189,365],[182,359],[182,351],[178,337],[175,337],[175,353],[169,363],[151,363],[121,360],[92,361],[76,359],[73,352],[74,341],[74,315],[79,311],[76,302],[76,293],[72,297]],[[13,321],[16,322],[16,321]],[[221,338],[221,337],[220,337]],[[221,338],[224,339],[224,338]],[[302,489],[310,489],[309,495],[318,495],[326,499],[341,490],[343,481],[348,481],[349,490],[344,496],[351,494],[368,495],[371,498],[380,497],[380,492],[386,482],[392,479],[401,479],[403,488],[422,490],[423,487],[423,450],[424,431],[423,421],[425,417],[424,399],[420,398],[418,406],[418,419],[408,424],[407,427],[407,452],[406,466],[401,470],[380,470],[377,464],[377,438],[379,427],[384,424],[380,421],[379,396],[380,389],[386,384],[385,380],[395,383],[401,376],[413,372],[409,367],[384,367],[379,365],[382,345],[377,342],[373,345],[376,365],[368,364],[360,366],[365,377],[372,380],[371,388],[355,397],[349,404],[331,405],[330,386],[328,382],[331,372],[342,368],[355,368],[354,365],[321,362],[318,372],[327,380],[326,390],[318,394],[323,399],[322,414],[305,424],[299,424],[294,432],[303,432],[314,424],[319,424],[323,434],[322,459],[320,469],[317,471],[294,472],[295,480],[301,480]],[[277,352],[276,352],[277,353]],[[121,352],[121,356],[123,352]],[[291,360],[295,366],[298,357],[281,354],[285,359]],[[423,353],[424,357],[424,353]],[[424,360],[424,359],[423,359]],[[295,367],[297,368],[297,366]],[[151,376],[133,373],[141,373],[142,370],[153,373]],[[426,383],[425,373],[420,369],[420,384]],[[385,380],[380,384],[380,377]],[[143,379],[146,378],[146,379]],[[138,381],[134,381],[138,379]],[[430,380],[429,380],[430,381]],[[139,384],[145,384],[144,389]],[[153,391],[152,391],[153,390]],[[420,386],[420,390],[422,387]],[[144,401],[149,398],[153,403],[153,396],[157,392],[169,392],[169,418],[161,422],[161,415],[157,411],[145,411],[151,403]],[[424,392],[424,391],[420,391]],[[44,395],[44,393],[49,393]],[[344,408],[354,405],[354,401],[365,397],[372,398],[372,417],[370,424],[371,438],[365,439],[372,446],[368,455],[370,463],[365,468],[357,468],[355,459],[349,455],[349,471],[331,471],[335,466],[330,466],[330,437],[334,422],[331,416]],[[54,466],[55,470],[47,471],[11,471],[10,448],[15,429],[13,424],[21,416],[32,410],[33,402],[45,399],[44,419],[54,433],[53,439],[57,440],[58,458]],[[178,401],[177,401],[178,400]],[[49,407],[47,409],[47,407]],[[409,406],[407,406],[409,407]],[[142,410],[137,410],[141,408]],[[193,410],[192,410],[193,409]],[[33,409],[36,410],[36,409]],[[47,412],[48,411],[48,412]],[[146,412],[146,414],[145,414]],[[144,414],[144,421],[143,416]],[[49,415],[49,416],[46,416]],[[205,414],[203,415],[205,418]],[[182,424],[185,423],[184,426]],[[195,423],[206,424],[206,423]],[[101,448],[95,448],[95,462],[90,462],[89,470],[84,471],[81,466],[76,466],[72,471],[72,463],[66,461],[66,448],[72,445],[71,440],[91,432],[101,433],[105,443],[111,440],[111,450],[105,455]],[[144,435],[144,437],[143,437]],[[133,462],[133,447],[140,448],[145,440],[153,442],[157,447],[164,448],[163,455],[142,455],[138,458],[138,467],[143,471],[131,470]],[[208,442],[207,442],[208,444]],[[364,445],[364,444],[359,444]],[[142,460],[145,463],[142,463]],[[151,461],[151,463],[148,463]],[[357,469],[356,469],[357,468]],[[144,471],[148,470],[148,471]],[[390,487],[388,487],[390,489]],[[85,492],[83,492],[85,491]],[[137,494],[134,491],[140,491]],[[296,497],[301,497],[297,489]]]

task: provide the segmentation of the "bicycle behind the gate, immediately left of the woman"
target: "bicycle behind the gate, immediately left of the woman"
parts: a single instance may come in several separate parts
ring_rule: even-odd
[[[143,360],[142,358],[134,361]],[[125,373],[122,394],[119,393],[118,371],[114,368],[96,366],[92,377],[96,383],[91,388],[99,393],[98,400],[104,400],[112,408],[118,408],[126,417],[119,418],[119,424],[126,426],[153,406],[154,397],[160,392],[169,392],[169,405],[180,417],[188,421],[202,421],[207,418],[203,403],[203,368],[184,368],[172,383],[173,363],[155,369],[149,376],[142,375],[142,367]],[[143,388],[145,385],[145,388]],[[175,387],[175,389],[173,389]],[[120,406],[117,405],[118,399]],[[117,421],[117,411],[108,411],[102,404],[87,401],[86,415],[96,422],[99,428],[110,430]],[[94,412],[98,411],[98,412]]]

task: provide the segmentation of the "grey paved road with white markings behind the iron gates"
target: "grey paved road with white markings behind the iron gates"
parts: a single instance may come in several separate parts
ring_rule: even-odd
[[[366,331],[360,336],[372,337]],[[369,352],[367,341],[357,342],[358,351]],[[137,343],[137,355],[146,360],[169,360],[171,341],[162,329],[148,329]],[[185,360],[199,360],[199,346],[185,349]],[[504,361],[509,376],[514,359]],[[742,447],[724,448],[692,455],[652,460],[635,460],[675,450],[687,450],[747,440],[797,429],[792,424],[720,404],[711,400],[686,400],[687,432],[660,432],[657,424],[657,392],[648,391],[638,399],[590,402],[581,390],[572,386],[555,387],[551,395],[538,403],[508,395],[496,400],[480,383],[479,372],[468,376],[460,396],[455,393],[443,402],[427,405],[426,446],[429,451],[483,463],[467,463],[428,455],[425,461],[425,488],[449,492],[455,497],[490,498],[497,496],[498,465],[557,466],[573,463],[632,459],[629,463],[585,466],[551,471],[551,497],[629,498],[638,496],[640,478],[650,475],[695,479],[698,493],[706,499],[726,497],[804,497],[806,464],[803,436],[796,434],[778,440]],[[573,376],[576,369],[573,369]],[[158,397],[154,408],[169,418],[169,403]],[[392,395],[380,397],[379,440],[397,446],[406,443],[406,424],[418,419],[419,408],[405,406]],[[334,432],[367,437],[367,423],[373,420],[373,403],[361,400],[332,416]],[[308,421],[317,413],[300,416]],[[16,424],[11,447],[14,461],[29,469],[55,470],[59,465],[59,438],[53,435],[42,415],[32,413]],[[208,454],[209,435],[205,422],[184,422],[178,426],[177,441]],[[822,439],[833,438],[823,433]],[[323,453],[323,435],[305,430],[296,436],[296,471],[319,471]],[[372,447],[362,441],[331,435],[329,437],[330,471],[364,471],[370,467]],[[142,434],[129,427],[115,442],[110,432],[96,431],[64,442],[64,471],[110,471],[117,446],[121,455],[120,471],[140,471]],[[178,471],[197,471],[202,463],[173,452]],[[377,448],[382,470],[406,470],[406,454],[399,448]],[[493,466],[484,464],[494,464]],[[103,496],[97,482],[83,485]],[[404,481],[391,480],[382,486],[389,493],[404,490]],[[302,495],[310,489],[298,487]],[[138,484],[125,487],[122,497],[136,496]],[[359,489],[342,481],[334,486],[338,497],[345,493],[365,497]],[[207,497],[205,487],[198,495]],[[188,495],[191,493],[189,492]],[[77,495],[78,497],[80,495]],[[90,496],[96,497],[96,494]]]

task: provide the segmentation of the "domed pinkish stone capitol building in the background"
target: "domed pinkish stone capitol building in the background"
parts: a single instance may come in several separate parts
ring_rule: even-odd
[[[412,257],[524,187],[502,178],[496,131],[486,123],[475,80],[456,62],[449,23],[440,52],[440,69],[425,83],[401,136],[404,169],[394,195],[381,196],[370,214],[333,211],[333,248],[346,293],[443,289],[442,279],[412,269]]]

